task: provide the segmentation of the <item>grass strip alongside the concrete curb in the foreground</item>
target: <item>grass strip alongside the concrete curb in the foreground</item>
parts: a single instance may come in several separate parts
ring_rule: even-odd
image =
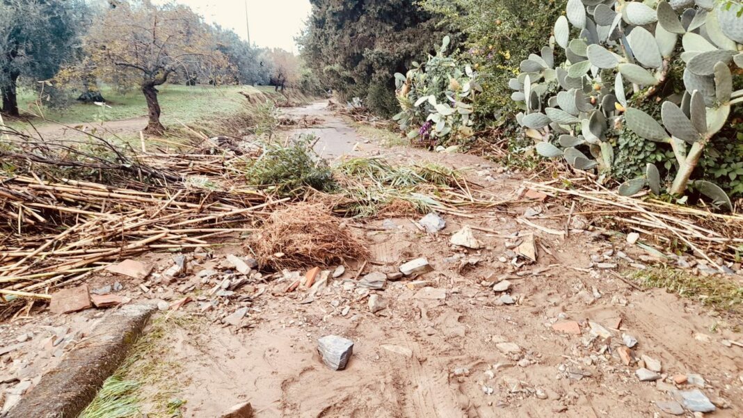
[[[175,344],[169,332],[176,328],[198,332],[199,326],[192,316],[155,319],[80,418],[181,417],[179,410],[186,402],[178,394],[188,382],[179,376],[182,365],[169,359]]]

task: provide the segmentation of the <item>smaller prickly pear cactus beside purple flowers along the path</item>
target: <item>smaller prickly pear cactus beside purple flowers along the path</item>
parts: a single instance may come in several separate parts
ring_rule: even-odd
[[[474,134],[472,102],[481,91],[478,76],[470,65],[446,56],[449,44],[449,36],[444,37],[438,53],[424,65],[413,62],[406,75],[395,74],[402,111],[392,119],[411,140],[444,143]]]

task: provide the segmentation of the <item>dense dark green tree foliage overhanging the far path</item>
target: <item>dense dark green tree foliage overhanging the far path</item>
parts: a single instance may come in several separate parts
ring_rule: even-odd
[[[377,114],[398,113],[393,74],[433,52],[443,34],[414,0],[311,0],[301,55],[340,99],[360,97]]]

